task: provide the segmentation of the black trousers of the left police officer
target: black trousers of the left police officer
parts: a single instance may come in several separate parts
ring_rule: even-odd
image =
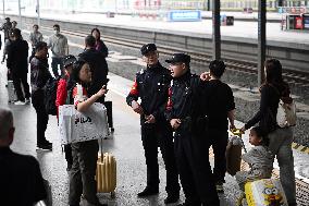
[[[168,194],[178,194],[178,172],[175,162],[172,131],[159,125],[141,125],[141,140],[147,165],[147,186],[159,190],[158,146],[165,163]]]

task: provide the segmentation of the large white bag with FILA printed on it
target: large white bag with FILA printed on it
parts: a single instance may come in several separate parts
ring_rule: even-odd
[[[59,107],[61,144],[104,138],[110,135],[107,109],[96,102],[86,112],[78,112],[74,105]]]

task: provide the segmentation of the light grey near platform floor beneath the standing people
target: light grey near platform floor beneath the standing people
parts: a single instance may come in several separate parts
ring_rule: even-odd
[[[118,187],[116,197],[113,199],[109,194],[99,194],[102,203],[111,206],[159,206],[164,205],[166,196],[164,192],[165,172],[164,163],[159,155],[160,166],[160,193],[149,198],[137,198],[137,193],[146,185],[146,165],[144,149],[140,141],[139,117],[134,113],[125,102],[125,96],[132,86],[132,81],[110,73],[109,94],[107,98],[113,101],[114,133],[110,138],[103,140],[103,152],[110,152],[118,161]],[[8,106],[8,94],[5,84],[5,69],[0,65],[0,105]],[[9,105],[13,110],[15,121],[15,140],[12,149],[35,156],[40,162],[42,175],[50,182],[53,196],[53,205],[67,205],[69,174],[65,170],[66,162],[59,140],[59,130],[55,117],[50,116],[47,138],[53,143],[52,152],[36,150],[36,112],[32,105],[14,106]],[[243,125],[236,122],[237,128]],[[246,147],[248,145],[248,133],[244,135]],[[295,170],[297,172],[297,202],[299,206],[309,204],[309,156],[294,150]],[[210,152],[210,161],[213,158]],[[276,167],[276,166],[275,166]],[[305,168],[300,173],[297,168]],[[276,167],[277,168],[277,167]],[[277,169],[274,170],[274,177]],[[233,177],[226,174],[224,194],[220,195],[222,206],[234,206],[239,195],[238,186]],[[181,202],[184,195],[181,195]]]

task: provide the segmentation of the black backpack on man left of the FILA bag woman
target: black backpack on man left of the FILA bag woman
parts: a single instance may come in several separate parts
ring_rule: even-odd
[[[50,77],[45,85],[45,109],[48,114],[57,116],[57,87],[59,78]]]

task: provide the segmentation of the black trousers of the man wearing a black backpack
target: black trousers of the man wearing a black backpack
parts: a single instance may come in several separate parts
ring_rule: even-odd
[[[37,90],[32,95],[32,102],[37,113],[37,144],[46,142],[45,132],[48,124],[48,113],[44,105],[44,92]]]

